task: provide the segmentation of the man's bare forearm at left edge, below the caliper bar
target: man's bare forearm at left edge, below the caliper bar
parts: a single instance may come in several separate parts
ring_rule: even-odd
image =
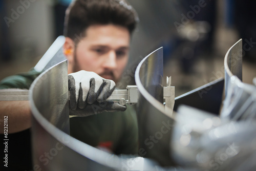
[[[31,127],[29,101],[0,101],[0,134],[4,133],[4,118],[8,116],[8,133]]]

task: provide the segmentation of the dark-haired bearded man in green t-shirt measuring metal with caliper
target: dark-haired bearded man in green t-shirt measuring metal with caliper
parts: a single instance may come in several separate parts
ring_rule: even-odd
[[[137,20],[130,5],[116,0],[74,1],[65,18],[63,52],[68,59],[70,114],[87,116],[70,119],[71,136],[115,154],[135,154],[138,147],[137,120],[131,108],[102,113],[126,109],[105,99],[113,92],[126,66]],[[0,89],[29,89],[38,75],[32,70],[6,78]],[[91,104],[101,102],[105,103],[105,109],[91,108]],[[0,115],[11,118],[9,133],[23,133],[31,126],[27,101],[0,101]]]

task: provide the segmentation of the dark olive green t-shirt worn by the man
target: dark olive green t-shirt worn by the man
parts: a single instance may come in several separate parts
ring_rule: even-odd
[[[29,89],[39,75],[34,69],[9,76],[0,82],[0,89]],[[102,113],[70,118],[72,137],[89,145],[108,148],[115,154],[137,154],[138,125],[135,110],[127,106],[124,112]]]

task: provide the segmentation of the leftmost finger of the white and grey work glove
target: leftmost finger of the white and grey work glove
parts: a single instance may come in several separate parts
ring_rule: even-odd
[[[68,84],[69,84],[69,92],[70,92],[70,108],[75,110],[77,108],[77,99],[78,99],[78,94],[79,92],[76,91],[76,84],[75,84],[75,79],[72,75],[68,76]],[[79,89],[78,89],[79,90]]]

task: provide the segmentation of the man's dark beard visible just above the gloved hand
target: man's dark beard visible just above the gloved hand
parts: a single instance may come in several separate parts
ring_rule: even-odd
[[[74,51],[74,65],[73,65],[73,68],[72,68],[72,72],[78,72],[78,71],[81,71],[81,70],[86,70],[86,69],[81,69],[78,61],[77,61],[77,55],[76,55],[76,49]],[[86,70],[88,71],[88,70]],[[105,69],[102,73],[96,73],[98,74],[99,76],[101,76],[102,78],[104,79],[111,79],[113,80],[115,83],[118,82],[119,79],[116,78],[116,76],[114,75],[113,71],[111,70],[108,70],[108,69]]]

